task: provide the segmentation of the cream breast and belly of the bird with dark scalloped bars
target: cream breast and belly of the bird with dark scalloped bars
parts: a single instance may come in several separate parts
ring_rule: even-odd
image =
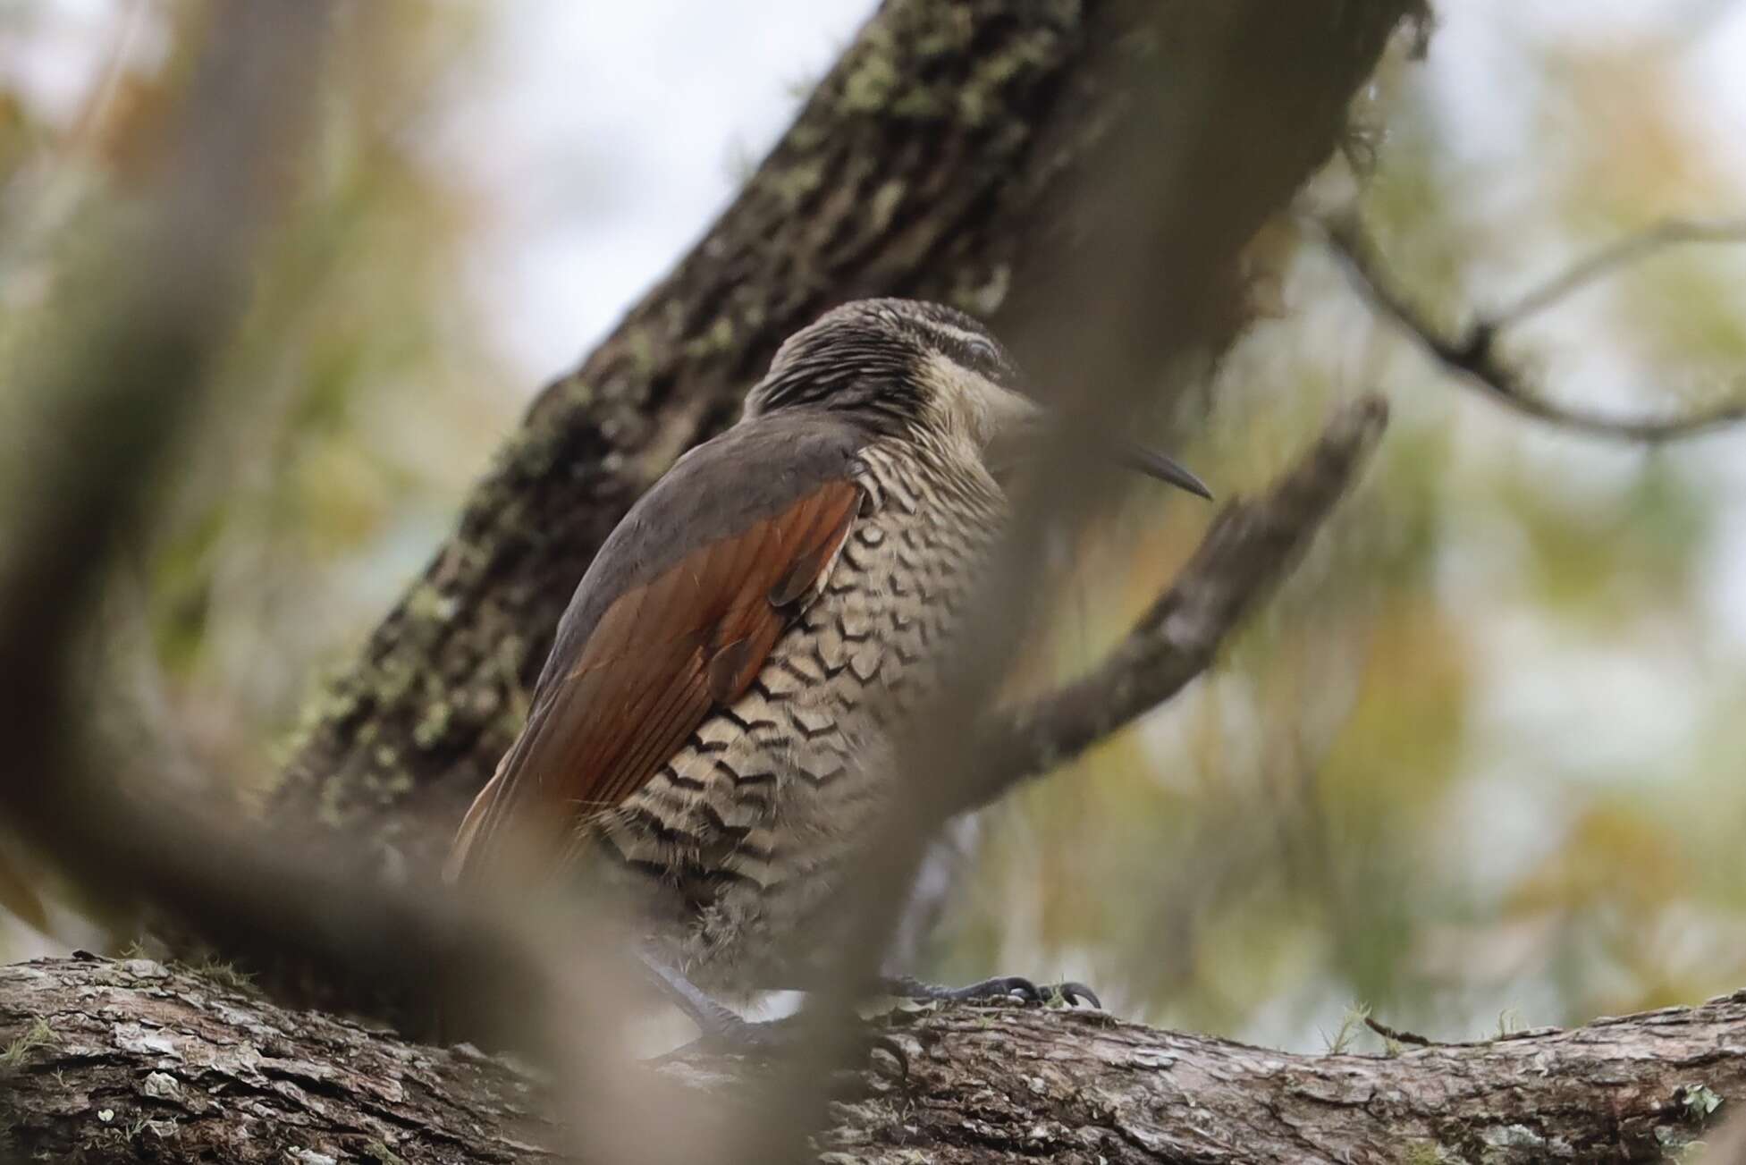
[[[751,690],[594,826],[705,989],[796,985],[796,961],[829,941],[833,891],[890,788],[890,725],[938,686],[1006,514],[980,461],[953,454],[927,437],[861,451],[861,512]]]

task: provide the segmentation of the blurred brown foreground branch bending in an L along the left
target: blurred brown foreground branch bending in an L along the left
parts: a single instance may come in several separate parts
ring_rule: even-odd
[[[506,910],[360,886],[330,854],[220,821],[150,781],[117,781],[126,762],[89,730],[80,636],[101,606],[101,580],[147,524],[168,454],[248,302],[251,264],[290,189],[281,168],[307,140],[304,82],[320,73],[328,17],[314,2],[215,10],[157,187],[117,229],[103,267],[68,276],[65,330],[9,384],[37,416],[23,456],[5,466],[14,505],[0,554],[0,709],[10,751],[0,823],[119,913],[150,910],[222,934],[253,964],[295,959],[344,978],[360,1010],[391,994],[423,1031],[440,1015],[450,1031],[533,1051],[569,1086],[573,1127],[587,1134],[580,1148],[595,1160],[663,1160],[665,1148],[670,1160],[693,1160],[695,1146],[681,1144],[686,1121],[630,1146],[615,1139],[623,1125],[588,1120],[587,1106],[623,1116],[660,1102],[613,1057],[616,1027],[601,1018],[627,989],[599,952],[623,943],[595,919],[592,947],[536,943],[540,924],[564,931],[526,903]],[[564,919],[583,929],[580,915]],[[0,1074],[28,1044],[26,1032],[0,1053]],[[80,1111],[89,1100],[61,1097]],[[89,1118],[105,1125],[105,1111],[91,1106]]]

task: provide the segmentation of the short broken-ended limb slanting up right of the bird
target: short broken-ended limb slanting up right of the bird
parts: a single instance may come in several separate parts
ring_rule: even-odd
[[[1076,758],[1158,707],[1212,665],[1224,639],[1303,557],[1341,496],[1364,473],[1388,403],[1343,407],[1303,459],[1259,498],[1219,514],[1194,557],[1091,672],[1006,713],[988,728],[990,782],[966,789],[985,805],[1013,784]]]

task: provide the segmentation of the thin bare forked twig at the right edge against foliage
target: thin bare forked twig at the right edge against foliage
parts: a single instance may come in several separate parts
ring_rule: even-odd
[[[1458,335],[1449,335],[1432,323],[1395,285],[1376,245],[1351,217],[1316,224],[1329,246],[1339,255],[1353,285],[1381,314],[1393,320],[1407,335],[1442,365],[1460,374],[1460,379],[1479,388],[1493,400],[1510,409],[1577,430],[1594,437],[1631,442],[1664,442],[1695,437],[1746,419],[1746,400],[1734,400],[1673,417],[1617,417],[1591,409],[1577,409],[1547,400],[1540,386],[1521,370],[1510,367],[1498,353],[1498,335],[1523,320],[1552,307],[1573,292],[1596,279],[1638,262],[1653,252],[1678,243],[1734,243],[1746,241],[1746,224],[1739,222],[1685,222],[1669,220],[1643,234],[1606,246],[1571,269],[1547,279],[1523,295],[1509,309],[1477,316]]]

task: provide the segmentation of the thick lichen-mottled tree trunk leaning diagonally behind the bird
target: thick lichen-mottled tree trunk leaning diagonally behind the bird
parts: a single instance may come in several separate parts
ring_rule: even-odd
[[[424,578],[313,702],[274,821],[356,838],[388,870],[430,863],[517,730],[595,548],[733,419],[784,335],[868,293],[1046,320],[1056,288],[1083,292],[1063,257],[1121,248],[1145,253],[1154,285],[1124,297],[1163,299],[1172,269],[1196,269],[1172,246],[1227,260],[1327,157],[1350,94],[1419,9],[889,0],[691,253],[541,393]],[[1123,236],[1131,215],[1098,196],[1159,164],[1194,175],[1217,229],[1177,215],[1180,238]]]

